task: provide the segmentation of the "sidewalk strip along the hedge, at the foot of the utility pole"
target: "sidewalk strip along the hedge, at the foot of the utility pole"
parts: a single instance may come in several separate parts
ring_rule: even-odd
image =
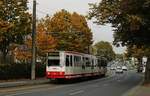
[[[36,80],[17,80],[17,81],[9,81],[9,82],[0,82],[0,88],[9,88],[9,87],[18,87],[18,86],[25,86],[25,85],[37,85],[37,84],[44,84],[48,83],[49,80],[46,78],[39,78]]]

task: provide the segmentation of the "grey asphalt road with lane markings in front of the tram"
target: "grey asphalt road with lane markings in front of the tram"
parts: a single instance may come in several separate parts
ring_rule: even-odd
[[[138,85],[142,75],[134,71],[71,84],[43,84],[2,89],[0,96],[122,96]]]

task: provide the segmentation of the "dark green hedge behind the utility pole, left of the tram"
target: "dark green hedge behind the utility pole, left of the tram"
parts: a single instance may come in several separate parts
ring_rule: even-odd
[[[31,64],[4,64],[0,65],[0,80],[30,78]],[[36,64],[36,77],[45,76],[45,65]]]

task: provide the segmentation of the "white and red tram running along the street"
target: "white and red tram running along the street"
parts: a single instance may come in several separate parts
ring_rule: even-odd
[[[72,79],[105,75],[106,66],[101,65],[98,58],[93,55],[72,51],[49,52],[46,77],[48,79]]]

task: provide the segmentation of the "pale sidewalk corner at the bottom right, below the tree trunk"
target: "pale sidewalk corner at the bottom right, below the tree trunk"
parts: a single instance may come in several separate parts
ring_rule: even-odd
[[[125,96],[150,96],[150,85],[139,85],[128,92]]]

